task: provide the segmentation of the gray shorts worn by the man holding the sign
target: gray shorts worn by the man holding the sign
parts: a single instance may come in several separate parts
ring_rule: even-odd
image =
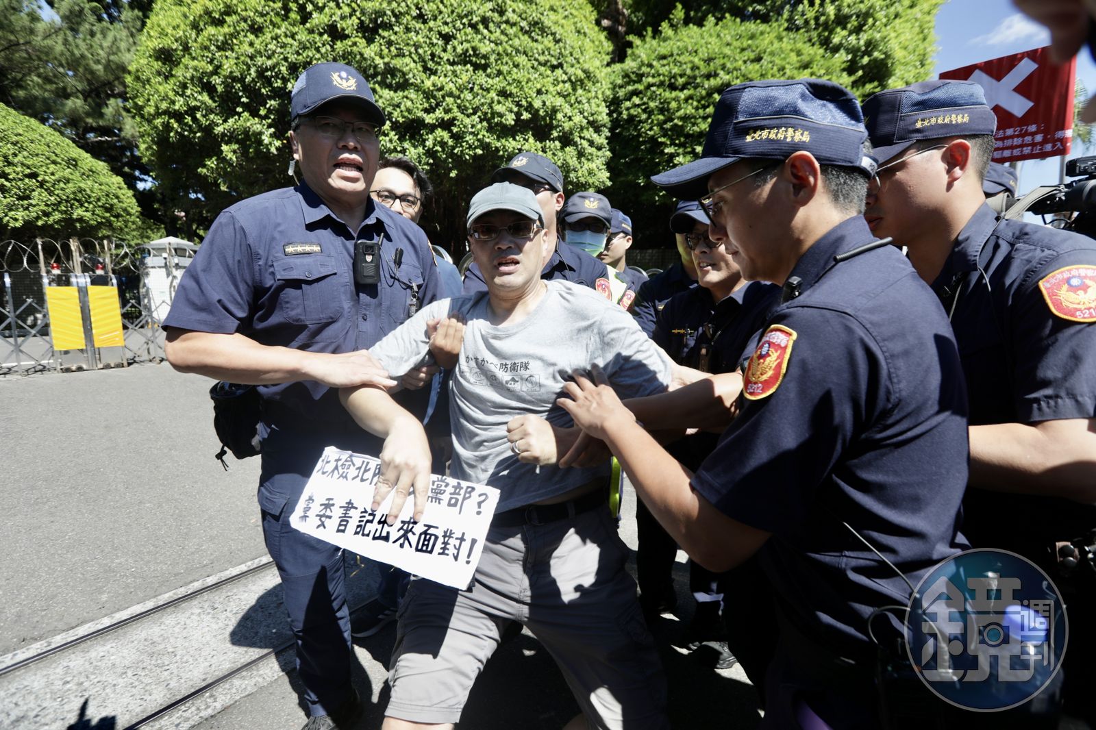
[[[464,591],[414,579],[400,605],[385,714],[457,722],[511,620],[559,664],[591,728],[669,728],[666,682],[606,506],[492,527]]]

